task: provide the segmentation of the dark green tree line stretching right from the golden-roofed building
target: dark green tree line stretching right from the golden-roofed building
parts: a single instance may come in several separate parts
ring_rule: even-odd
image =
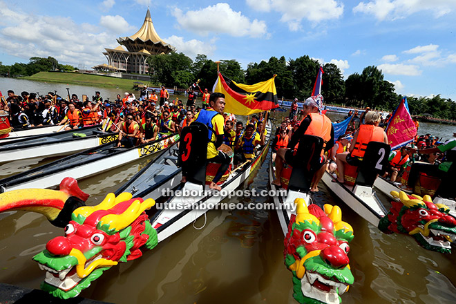
[[[200,79],[201,88],[211,88],[217,79],[217,64],[206,55],[197,55],[193,61],[183,53],[151,56],[148,59],[151,82],[155,85],[187,88]],[[279,99],[298,98],[304,100],[312,94],[320,64],[309,56],[286,60],[271,57],[269,61],[251,63],[246,70],[238,61],[220,61],[220,72],[238,83],[263,82],[277,74],[276,90]],[[335,64],[323,65],[322,95],[328,104],[369,106],[383,111],[394,111],[402,95],[395,93],[391,82],[383,79],[376,66],[368,66],[361,73],[343,79]],[[412,115],[430,114],[433,117],[456,120],[456,103],[437,95],[435,97],[407,97]]]

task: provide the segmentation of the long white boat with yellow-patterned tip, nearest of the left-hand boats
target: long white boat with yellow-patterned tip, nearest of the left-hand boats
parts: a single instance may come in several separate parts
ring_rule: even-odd
[[[178,140],[179,135],[173,134],[132,148],[117,147],[117,142],[108,142],[3,178],[0,180],[0,193],[15,189],[53,187],[67,176],[86,178],[167,149]]]

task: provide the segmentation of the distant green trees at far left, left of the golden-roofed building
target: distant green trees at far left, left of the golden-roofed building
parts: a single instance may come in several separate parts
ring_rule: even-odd
[[[31,57],[28,64],[16,62],[10,66],[4,66],[0,61],[0,75],[3,77],[21,77],[31,76],[39,72],[47,72],[50,70],[59,70],[63,72],[71,72],[77,68],[68,64],[59,64],[59,61],[53,57]]]

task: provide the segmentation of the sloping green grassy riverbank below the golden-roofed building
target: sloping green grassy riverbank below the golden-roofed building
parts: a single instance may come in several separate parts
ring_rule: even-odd
[[[77,84],[81,86],[99,86],[102,88],[119,88],[129,91],[133,88],[135,79],[122,79],[102,75],[89,75],[80,73],[54,73],[39,72],[35,75],[23,77],[23,79],[39,82],[55,82],[59,84]]]

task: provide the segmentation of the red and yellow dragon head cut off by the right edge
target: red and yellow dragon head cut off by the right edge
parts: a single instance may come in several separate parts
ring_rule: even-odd
[[[456,240],[456,219],[443,204],[434,204],[430,196],[409,196],[401,191],[391,195],[399,202],[391,202],[390,211],[379,222],[379,229],[386,234],[399,233],[413,236],[428,250],[451,253],[451,242]]]

